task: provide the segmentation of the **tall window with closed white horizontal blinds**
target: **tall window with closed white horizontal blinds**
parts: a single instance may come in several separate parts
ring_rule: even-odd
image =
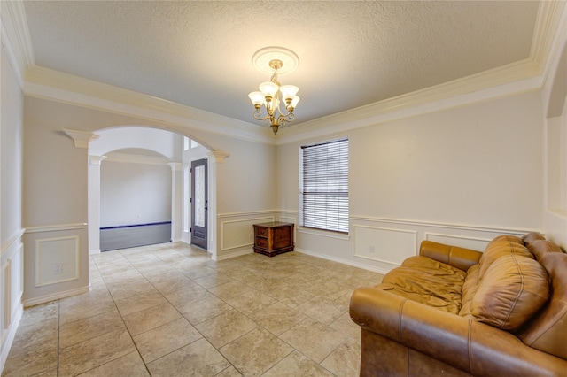
[[[348,139],[301,147],[303,227],[348,233]]]

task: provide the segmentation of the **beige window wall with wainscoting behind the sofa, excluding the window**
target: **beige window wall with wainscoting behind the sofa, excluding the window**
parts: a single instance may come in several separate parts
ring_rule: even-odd
[[[299,146],[348,136],[351,232],[299,228],[299,250],[384,272],[423,239],[482,250],[543,230],[542,129],[532,92],[284,144],[279,205],[299,216]]]

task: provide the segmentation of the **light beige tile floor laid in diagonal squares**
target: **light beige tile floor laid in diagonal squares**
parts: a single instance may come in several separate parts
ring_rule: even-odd
[[[382,275],[288,252],[215,262],[184,243],[90,258],[89,293],[24,311],[3,376],[357,376],[358,286]]]

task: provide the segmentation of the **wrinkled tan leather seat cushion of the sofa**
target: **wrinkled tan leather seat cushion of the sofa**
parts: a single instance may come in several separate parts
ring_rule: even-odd
[[[382,284],[376,288],[458,314],[466,276],[459,268],[416,256],[407,258],[400,267],[386,273]]]

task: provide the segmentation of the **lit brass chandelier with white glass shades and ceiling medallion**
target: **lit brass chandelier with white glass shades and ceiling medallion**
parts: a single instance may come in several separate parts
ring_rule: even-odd
[[[261,63],[265,63],[262,60],[266,60],[266,58],[269,58],[268,66],[274,73],[270,81],[260,84],[260,91],[252,92],[248,97],[254,105],[254,119],[263,120],[267,126],[272,127],[272,131],[276,135],[280,126],[284,126],[295,119],[293,111],[299,103],[299,96],[296,96],[299,88],[295,85],[281,85],[277,81],[277,73],[278,71],[281,72],[283,68],[283,60],[287,60],[286,63],[289,61],[293,65],[286,67],[288,68],[286,72],[290,72],[298,64],[299,59],[290,50],[267,48],[256,52],[252,61],[260,70],[266,72],[259,66]],[[262,105],[265,108],[264,112],[262,112]],[[283,105],[284,111],[281,109],[281,105]]]

